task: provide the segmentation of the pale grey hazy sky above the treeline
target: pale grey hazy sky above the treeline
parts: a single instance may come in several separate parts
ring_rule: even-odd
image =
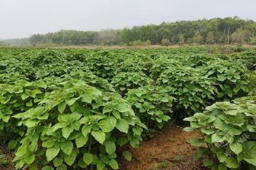
[[[255,0],[0,0],[0,39],[60,29],[118,29],[177,20],[256,20]]]

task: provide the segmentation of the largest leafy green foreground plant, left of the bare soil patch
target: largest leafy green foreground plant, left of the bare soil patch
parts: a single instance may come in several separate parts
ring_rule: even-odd
[[[27,128],[15,153],[17,168],[51,166],[53,161],[55,167],[118,169],[116,145],[129,142],[138,148],[141,133],[136,129],[147,129],[127,101],[83,81],[63,83],[63,89],[45,94],[36,108],[13,117]]]

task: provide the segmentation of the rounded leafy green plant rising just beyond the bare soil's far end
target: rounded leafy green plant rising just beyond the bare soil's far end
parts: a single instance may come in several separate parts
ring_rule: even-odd
[[[218,93],[214,82],[200,74],[200,69],[192,67],[172,67],[163,71],[157,85],[170,89],[169,94],[177,99],[176,111],[179,117],[186,117],[214,101]]]

